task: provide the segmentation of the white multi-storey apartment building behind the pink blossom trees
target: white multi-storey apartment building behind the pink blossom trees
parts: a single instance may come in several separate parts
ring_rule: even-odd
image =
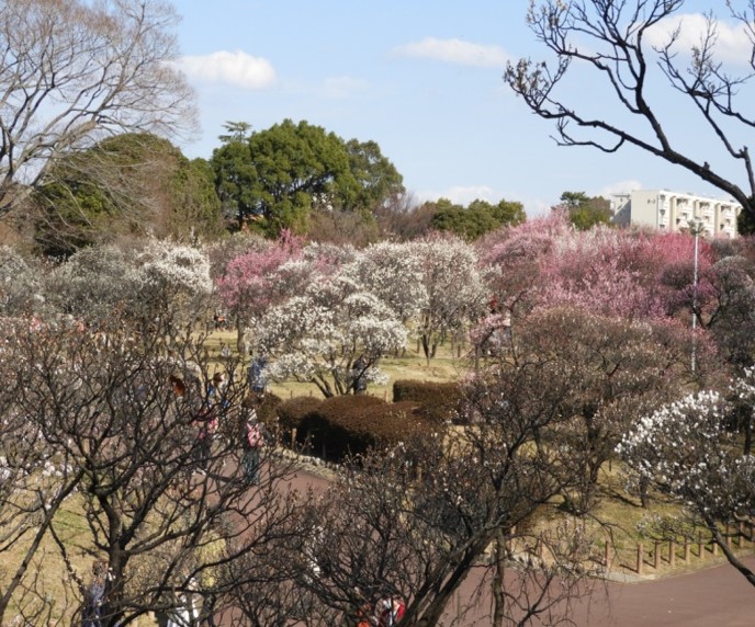
[[[647,226],[662,231],[688,229],[690,223],[700,225],[712,237],[736,237],[736,217],[742,205],[709,196],[669,192],[668,190],[635,190],[613,195],[613,219],[619,226]]]

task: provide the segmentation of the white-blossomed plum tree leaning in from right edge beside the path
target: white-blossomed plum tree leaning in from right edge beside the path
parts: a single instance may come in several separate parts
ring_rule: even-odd
[[[688,395],[641,419],[617,452],[635,485],[677,499],[755,585],[755,572],[734,555],[720,527],[752,520],[755,511],[755,457],[741,453],[724,410],[715,391]]]

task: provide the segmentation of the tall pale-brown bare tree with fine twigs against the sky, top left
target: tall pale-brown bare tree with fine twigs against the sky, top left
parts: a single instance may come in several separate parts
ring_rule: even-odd
[[[0,215],[104,135],[193,126],[193,93],[170,65],[176,19],[162,0],[0,3]]]

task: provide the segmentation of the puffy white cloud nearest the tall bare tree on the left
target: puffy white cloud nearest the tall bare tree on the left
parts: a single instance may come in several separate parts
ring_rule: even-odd
[[[275,70],[270,61],[243,50],[182,57],[178,66],[190,79],[243,89],[264,89],[275,82]]]

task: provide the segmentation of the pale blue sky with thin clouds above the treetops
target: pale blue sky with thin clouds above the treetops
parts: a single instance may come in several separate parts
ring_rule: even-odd
[[[687,3],[695,11],[721,0]],[[604,155],[560,148],[554,128],[504,84],[507,60],[548,58],[526,25],[528,0],[174,0],[181,67],[199,98],[202,133],[181,146],[209,158],[223,124],[262,130],[306,119],[343,139],[376,141],[416,200],[519,201],[529,216],[564,191],[608,195],[671,189],[721,197],[681,169],[630,148]],[[696,18],[696,19],[694,19]],[[732,24],[733,26],[733,24]],[[746,58],[743,37],[722,25],[722,53]],[[590,76],[570,88],[574,106],[617,105]],[[695,130],[698,117],[658,92],[675,139],[718,166]],[[720,168],[730,176],[736,170]],[[744,181],[742,181],[744,183]]]

